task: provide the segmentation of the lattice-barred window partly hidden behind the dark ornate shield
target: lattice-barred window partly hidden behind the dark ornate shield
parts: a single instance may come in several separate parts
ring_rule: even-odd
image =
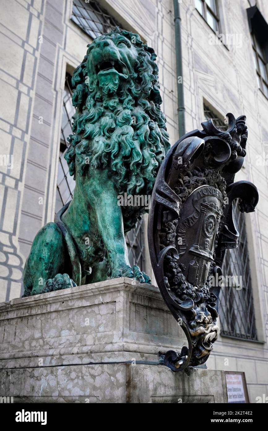
[[[219,119],[219,116],[215,115],[205,104],[204,113],[206,120],[211,118],[219,130],[227,130],[228,125],[225,125],[224,121]],[[226,283],[229,285],[221,289],[221,334],[228,337],[257,340],[245,216],[239,210],[238,199],[233,202],[233,218],[239,232],[238,247],[225,251],[222,275],[237,277],[235,280],[233,279],[235,283]],[[233,284],[235,285],[233,286]]]

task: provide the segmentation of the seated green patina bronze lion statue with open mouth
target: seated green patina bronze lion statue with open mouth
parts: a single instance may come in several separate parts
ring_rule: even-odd
[[[137,34],[119,28],[88,45],[72,78],[65,159],[74,197],[34,238],[24,296],[121,276],[150,281],[130,267],[124,237],[145,208],[119,206],[117,196],[150,195],[169,149],[155,59]]]

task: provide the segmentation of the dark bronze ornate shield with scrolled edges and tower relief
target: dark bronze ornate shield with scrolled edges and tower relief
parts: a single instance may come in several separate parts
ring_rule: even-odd
[[[221,275],[225,249],[237,247],[232,201],[240,199],[242,212],[254,211],[258,202],[252,183],[234,183],[246,155],[246,117],[226,116],[226,132],[209,120],[202,123],[203,130],[176,142],[152,194],[151,263],[161,294],[188,339],[188,348],[165,354],[164,362],[173,371],[203,364],[213,349],[220,287],[209,281]]]

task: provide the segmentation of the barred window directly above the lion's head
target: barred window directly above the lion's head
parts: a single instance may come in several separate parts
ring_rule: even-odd
[[[87,3],[83,0],[74,0],[71,19],[92,39],[109,33],[116,25],[121,27],[95,0]]]

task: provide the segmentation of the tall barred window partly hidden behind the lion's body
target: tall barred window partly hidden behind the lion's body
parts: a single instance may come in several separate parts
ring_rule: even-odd
[[[67,137],[72,133],[72,116],[74,113],[71,75],[66,73],[55,212],[58,212],[65,203],[69,202],[74,193],[75,181],[69,174],[68,164],[64,158],[69,146]],[[126,234],[126,244],[130,265],[138,265],[142,271],[145,271],[143,220],[140,220],[136,228]]]

